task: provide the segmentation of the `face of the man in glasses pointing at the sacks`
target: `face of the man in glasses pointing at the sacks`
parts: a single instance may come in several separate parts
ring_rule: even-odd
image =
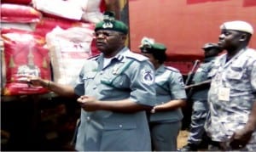
[[[111,58],[125,46],[125,34],[119,31],[98,30],[95,32],[96,48],[105,58]]]

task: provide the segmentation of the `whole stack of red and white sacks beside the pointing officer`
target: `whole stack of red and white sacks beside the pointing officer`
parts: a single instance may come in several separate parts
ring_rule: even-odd
[[[84,59],[98,53],[93,30],[105,8],[104,0],[3,0],[3,95],[48,93],[20,83],[22,75],[72,85]]]

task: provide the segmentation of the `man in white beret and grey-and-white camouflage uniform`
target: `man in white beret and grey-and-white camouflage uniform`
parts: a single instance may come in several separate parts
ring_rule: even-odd
[[[236,20],[220,26],[218,46],[227,51],[212,67],[208,135],[224,150],[256,150],[256,51],[253,27]]]

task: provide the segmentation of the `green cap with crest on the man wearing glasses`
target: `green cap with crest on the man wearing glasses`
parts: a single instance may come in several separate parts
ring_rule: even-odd
[[[115,20],[113,12],[105,12],[103,14],[103,20],[97,23],[95,27],[95,31],[98,30],[119,31],[124,34],[128,33],[127,25],[122,21]]]

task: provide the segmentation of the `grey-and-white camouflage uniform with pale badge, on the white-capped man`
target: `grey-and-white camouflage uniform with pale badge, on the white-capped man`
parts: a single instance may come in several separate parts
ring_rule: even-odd
[[[205,128],[213,141],[230,143],[236,130],[245,126],[253,102],[256,100],[256,52],[245,48],[226,63],[227,55],[221,55],[209,76],[212,84],[208,93],[210,118]],[[230,147],[226,147],[230,149]],[[245,150],[256,149],[256,132]]]

